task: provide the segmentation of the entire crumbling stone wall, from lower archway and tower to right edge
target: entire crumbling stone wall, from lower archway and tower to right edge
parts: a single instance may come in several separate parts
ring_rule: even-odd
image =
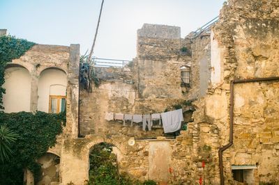
[[[180,39],[176,27],[167,31],[167,26],[162,28],[157,33],[155,26],[155,31],[149,33],[152,26],[144,26],[139,31],[137,58],[128,70],[98,69],[100,87],[91,94],[81,91],[80,125],[85,138],[64,140],[63,184],[88,179],[89,150],[103,141],[119,148],[123,154],[119,167],[132,177],[152,178],[150,143],[162,141],[172,149],[169,182],[197,184],[202,177],[206,184],[220,184],[218,150],[229,142],[230,81],[279,76],[278,3],[229,1],[210,37],[204,33],[192,44],[187,38]],[[190,48],[191,56],[179,51],[183,46]],[[193,88],[183,94],[179,67],[186,64],[193,69]],[[206,74],[205,69],[211,69],[211,75],[200,76]],[[211,80],[208,90],[206,79]],[[189,122],[187,131],[181,131],[173,140],[162,137],[162,129],[145,132],[139,125],[123,127],[121,122],[104,120],[106,111],[162,112],[192,97],[199,97],[194,102],[194,122]],[[278,82],[236,84],[234,144],[223,154],[225,184],[236,183],[232,165],[256,165],[255,183],[278,182],[277,102]],[[136,137],[133,146],[128,145],[131,137]],[[73,163],[67,163],[69,160]],[[82,171],[73,170],[75,163]]]

